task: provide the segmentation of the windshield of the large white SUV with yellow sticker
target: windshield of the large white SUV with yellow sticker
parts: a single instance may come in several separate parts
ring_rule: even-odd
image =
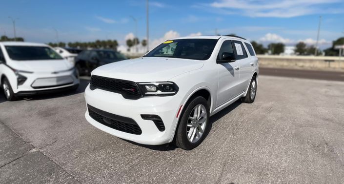
[[[145,55],[145,57],[183,58],[207,60],[218,40],[181,39],[165,41]]]

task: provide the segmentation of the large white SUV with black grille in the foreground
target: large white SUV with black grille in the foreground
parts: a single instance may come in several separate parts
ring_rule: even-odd
[[[86,120],[142,144],[198,146],[209,117],[242,99],[252,103],[258,59],[236,36],[168,40],[142,58],[103,65],[85,90]]]

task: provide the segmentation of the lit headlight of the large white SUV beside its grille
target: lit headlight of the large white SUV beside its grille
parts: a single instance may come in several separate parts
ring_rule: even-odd
[[[143,96],[170,96],[179,90],[174,82],[142,82],[139,86],[144,93]]]

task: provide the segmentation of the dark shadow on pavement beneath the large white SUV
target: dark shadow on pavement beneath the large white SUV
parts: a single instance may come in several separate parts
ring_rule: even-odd
[[[226,114],[230,113],[233,109],[237,108],[242,103],[243,102],[241,102],[241,100],[238,100],[238,101],[230,104],[229,106],[227,106],[226,108],[224,108],[220,112],[216,113],[215,115],[211,116],[210,117],[210,131],[208,131],[206,133],[205,137],[208,136],[208,134],[211,132],[211,128],[213,126],[213,123],[216,123],[219,119],[221,119]],[[142,146],[142,147],[145,147],[148,149],[157,150],[157,151],[173,151],[176,148],[178,148],[173,143],[166,143],[166,144],[162,144],[162,145],[145,145],[145,144],[135,143],[135,142],[124,140],[124,139],[121,139],[121,140],[128,142],[128,143],[138,145],[138,146]]]

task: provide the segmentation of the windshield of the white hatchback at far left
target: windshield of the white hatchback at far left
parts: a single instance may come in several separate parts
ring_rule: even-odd
[[[50,47],[45,46],[5,46],[12,60],[62,60]]]

